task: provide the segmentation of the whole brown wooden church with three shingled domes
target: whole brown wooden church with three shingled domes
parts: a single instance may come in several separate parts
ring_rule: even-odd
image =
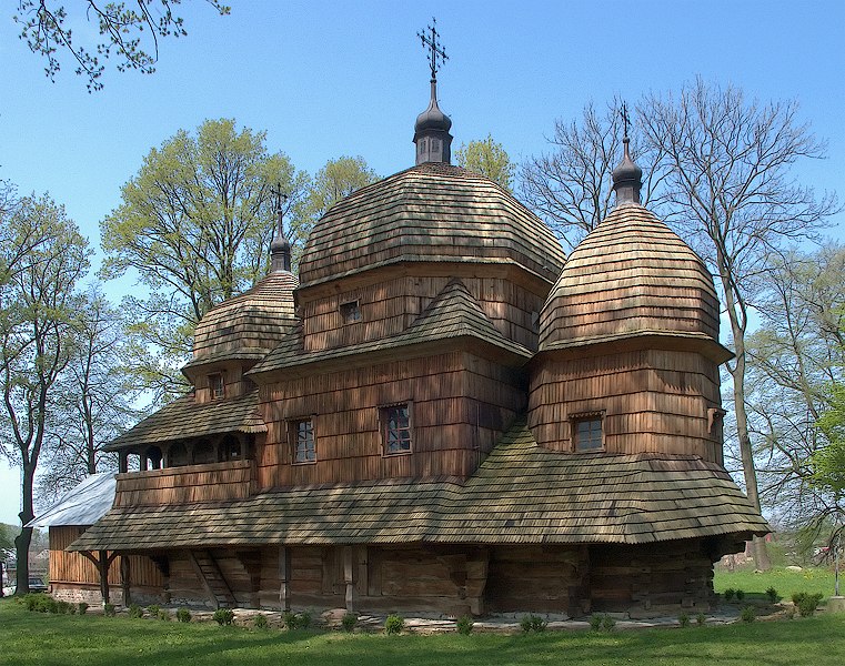
[[[113,505],[62,553],[88,573],[54,589],[99,573],[124,603],[706,609],[713,563],[768,531],[723,467],[711,275],[641,205],[627,139],[616,208],[565,258],[450,164],[435,69],[416,165],[334,205],[299,278],[280,214],[270,273],[197,327],[194,390],[111,445]]]

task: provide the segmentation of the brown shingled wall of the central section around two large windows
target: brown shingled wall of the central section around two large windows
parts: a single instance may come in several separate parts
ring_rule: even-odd
[[[520,372],[464,352],[314,373],[261,387],[258,486],[467,476],[525,406]],[[379,407],[410,403],[412,453],[384,455]],[[288,421],[311,417],[316,463],[293,464]]]

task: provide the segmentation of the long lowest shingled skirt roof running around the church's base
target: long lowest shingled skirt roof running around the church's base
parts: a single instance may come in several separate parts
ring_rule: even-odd
[[[768,532],[695,456],[563,454],[517,423],[466,482],[301,486],[249,500],[112,508],[71,551],[391,543],[646,544]]]

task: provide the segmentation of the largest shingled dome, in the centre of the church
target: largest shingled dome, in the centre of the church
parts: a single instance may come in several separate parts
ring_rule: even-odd
[[[300,284],[400,262],[511,263],[554,282],[563,261],[554,234],[503,188],[430,162],[334,205],[311,231]]]

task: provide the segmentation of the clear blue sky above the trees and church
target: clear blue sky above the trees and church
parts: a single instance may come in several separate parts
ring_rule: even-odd
[[[763,101],[797,99],[829,158],[796,174],[845,193],[843,0],[229,3],[220,18],[185,2],[189,36],[161,42],[155,74],[109,70],[92,94],[70,61],[56,83],[44,77],[4,3],[0,178],[21,193],[50,192],[97,248],[100,220],[142,158],[208,118],[266,131],[271,151],[311,173],[345,154],[389,175],[413,163],[413,123],[429,95],[415,34],[435,16],[450,57],[439,97],[455,147],[490,133],[521,161],[545,149],[555,119],[576,118],[591,100],[635,102],[701,75]],[[94,31],[72,27],[79,39]],[[18,504],[18,473],[0,465],[0,522],[17,522]]]

